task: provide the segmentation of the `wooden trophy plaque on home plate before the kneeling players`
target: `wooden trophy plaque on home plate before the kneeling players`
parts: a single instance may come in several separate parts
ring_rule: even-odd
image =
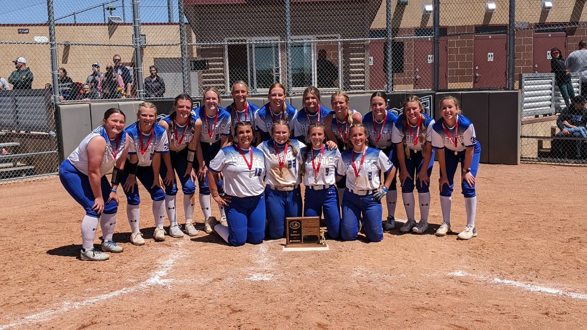
[[[284,251],[328,250],[319,217],[285,218],[285,238]]]

